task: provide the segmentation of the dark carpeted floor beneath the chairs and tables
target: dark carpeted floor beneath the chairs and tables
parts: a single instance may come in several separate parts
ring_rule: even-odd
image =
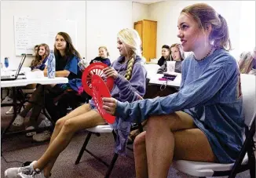
[[[1,111],[1,127],[4,128],[10,121],[12,115],[6,115],[5,112],[8,107],[2,107]],[[43,116],[41,116],[43,118]],[[107,167],[98,162],[97,159],[93,158],[86,152],[83,154],[81,162],[75,165],[75,159],[79,154],[79,150],[82,147],[82,143],[85,140],[86,133],[81,131],[76,133],[74,138],[68,147],[60,154],[56,164],[53,167],[53,178],[101,178],[107,171]],[[6,136],[2,142],[2,155],[1,157],[1,177],[4,177],[5,169],[14,166],[20,166],[21,163],[38,159],[48,146],[47,143],[32,143],[31,138],[27,138],[24,135]],[[104,161],[111,162],[113,155],[113,136],[111,133],[102,134],[101,136],[93,135],[88,149],[94,154],[99,155]],[[113,178],[135,178],[134,160],[133,153],[127,151],[127,156],[119,156],[115,167],[112,170],[111,177]],[[5,160],[7,162],[5,162]],[[169,171],[168,177],[192,178],[193,176],[185,175],[184,173],[177,172],[175,169]],[[240,173],[238,178],[250,177],[248,171]]]

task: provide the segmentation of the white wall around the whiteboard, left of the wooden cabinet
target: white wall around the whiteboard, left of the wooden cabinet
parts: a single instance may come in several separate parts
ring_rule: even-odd
[[[77,22],[75,48],[81,56],[92,60],[98,55],[98,47],[106,45],[111,60],[115,60],[119,56],[119,51],[116,49],[118,31],[133,27],[132,8],[130,1],[2,1],[1,62],[5,56],[9,56],[9,66],[12,68],[17,67],[20,62],[20,56],[15,55],[13,16],[75,20]],[[27,56],[24,67],[29,66],[33,59],[33,56]]]

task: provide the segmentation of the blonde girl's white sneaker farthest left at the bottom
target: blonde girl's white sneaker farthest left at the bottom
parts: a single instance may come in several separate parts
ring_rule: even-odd
[[[19,167],[19,168],[9,168],[5,170],[5,178],[16,178],[18,173],[33,173],[35,170],[33,168],[33,165],[36,161],[31,162],[30,165],[27,165],[25,167]]]

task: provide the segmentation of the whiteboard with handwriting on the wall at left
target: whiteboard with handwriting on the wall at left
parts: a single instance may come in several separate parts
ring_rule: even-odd
[[[49,19],[44,20],[34,16],[14,16],[14,37],[16,56],[33,54],[34,46],[41,43],[53,49],[58,32],[64,31],[70,35],[73,45],[77,43],[77,24],[75,20]]]

